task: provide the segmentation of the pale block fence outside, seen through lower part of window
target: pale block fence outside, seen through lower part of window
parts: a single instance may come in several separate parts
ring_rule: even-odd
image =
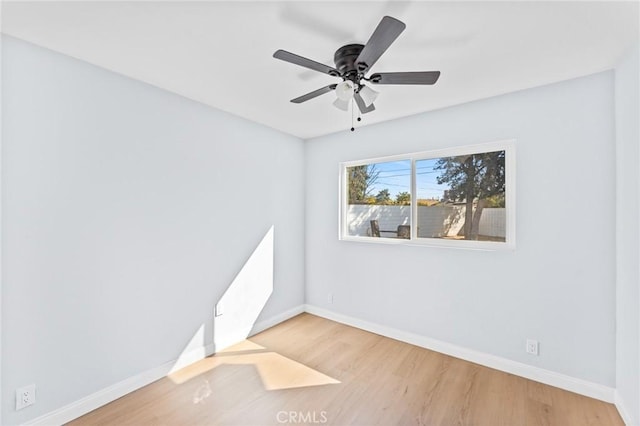
[[[464,225],[465,206],[418,206],[418,237],[452,237]],[[398,225],[410,225],[410,206],[349,205],[347,232],[349,235],[370,235],[370,222],[377,220],[381,230],[396,231]],[[480,235],[504,238],[506,214],[504,208],[485,208],[480,216]],[[383,234],[391,236],[392,234]]]

